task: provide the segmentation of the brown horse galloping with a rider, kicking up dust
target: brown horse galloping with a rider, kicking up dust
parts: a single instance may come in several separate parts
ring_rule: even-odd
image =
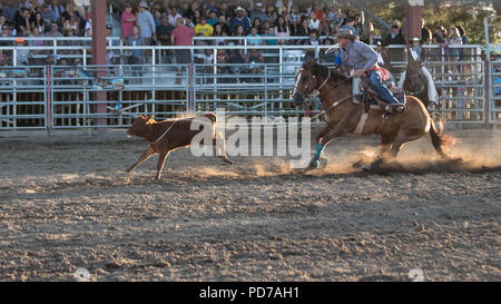
[[[449,137],[441,135],[426,108],[415,97],[406,96],[406,110],[402,115],[392,114],[383,118],[380,106],[371,106],[369,112],[352,96],[351,78],[340,69],[331,70],[312,60],[301,69],[294,89],[294,104],[302,106],[306,97],[318,94],[323,101],[323,110],[327,117],[325,126],[316,136],[316,153],[308,169],[317,168],[325,146],[345,134],[381,135],[381,154],[367,170],[380,167],[389,156],[395,158],[402,147],[430,133],[433,146],[440,156],[446,157],[443,147],[450,144]]]

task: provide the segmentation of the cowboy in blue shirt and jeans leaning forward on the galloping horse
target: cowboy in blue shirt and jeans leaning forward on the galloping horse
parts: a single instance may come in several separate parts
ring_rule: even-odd
[[[392,91],[384,85],[384,81],[391,79],[390,72],[377,65],[377,55],[375,51],[357,40],[356,36],[350,30],[341,30],[337,35],[338,46],[342,49],[341,60],[344,65],[344,70],[354,77],[354,95],[357,95],[360,87],[360,77],[365,73],[369,75],[371,87],[379,94],[379,96],[389,104],[385,107],[390,111],[393,110],[401,114],[404,110],[403,100],[396,99]]]

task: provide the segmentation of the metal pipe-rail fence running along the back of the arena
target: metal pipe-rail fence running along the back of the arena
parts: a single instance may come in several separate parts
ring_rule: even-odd
[[[138,114],[168,118],[216,108],[225,108],[229,116],[301,116],[304,111],[291,101],[294,77],[310,58],[333,62],[335,52],[325,53],[326,48],[120,45],[108,48],[108,66],[95,67],[86,65],[88,48],[0,47],[0,51],[10,51],[13,58],[24,49],[61,57],[53,65],[26,66],[14,60],[11,67],[0,67],[0,129],[90,129],[99,127],[99,118],[106,118],[107,127],[125,127]],[[458,58],[438,47],[428,49],[426,67],[441,96],[440,108],[433,112],[452,122],[483,124],[485,115],[491,122],[498,121],[499,100],[492,85],[491,98],[485,104],[488,73],[481,58],[483,48],[461,46],[462,56]],[[183,51],[187,58],[179,56]],[[391,46],[389,52],[390,67],[400,78],[406,65],[404,48]],[[493,65],[488,66],[491,71]],[[94,77],[99,71],[107,76]],[[489,84],[494,84],[499,76],[491,73]],[[102,101],[96,99],[95,92],[100,91],[107,95],[106,112],[97,110]],[[485,112],[487,109],[490,111]]]

